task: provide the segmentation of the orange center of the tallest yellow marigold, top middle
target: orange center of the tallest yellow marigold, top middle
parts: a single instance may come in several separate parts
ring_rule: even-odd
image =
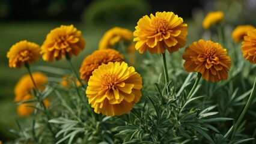
[[[154,26],[154,32],[156,34],[165,34],[165,32],[168,31],[168,22],[165,19],[156,18],[151,23]]]

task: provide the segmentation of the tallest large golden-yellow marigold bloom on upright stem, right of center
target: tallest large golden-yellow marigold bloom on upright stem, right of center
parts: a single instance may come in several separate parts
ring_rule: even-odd
[[[137,41],[135,48],[139,53],[147,50],[150,53],[176,52],[186,44],[187,24],[172,12],[157,12],[156,16],[144,16],[138,21],[133,32]]]

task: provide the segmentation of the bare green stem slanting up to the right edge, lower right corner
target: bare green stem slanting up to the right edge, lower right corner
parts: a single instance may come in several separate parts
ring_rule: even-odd
[[[234,134],[236,134],[236,130],[237,130],[237,126],[240,124],[240,122],[242,121],[243,119],[243,116],[245,115],[248,107],[250,106],[251,102],[252,102],[252,99],[254,98],[255,96],[255,91],[256,91],[256,77],[254,79],[254,85],[252,86],[252,91],[251,91],[251,94],[248,98],[248,101],[247,103],[245,104],[245,107],[243,108],[243,111],[241,113],[241,115],[239,116],[239,118],[237,119],[237,122],[234,124],[234,130],[233,130],[233,133],[232,133],[232,136],[231,136],[231,140],[233,139],[234,137]]]

